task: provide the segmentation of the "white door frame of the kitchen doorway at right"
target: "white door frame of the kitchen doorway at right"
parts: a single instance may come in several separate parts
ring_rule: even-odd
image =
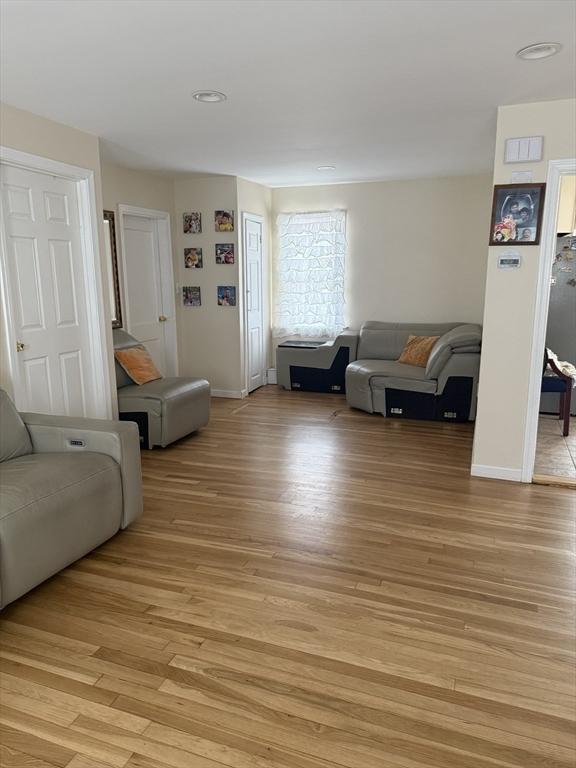
[[[546,200],[540,238],[538,284],[536,287],[536,313],[532,334],[530,381],[528,382],[528,412],[526,414],[524,455],[520,477],[523,483],[531,483],[534,475],[536,441],[538,439],[538,411],[542,389],[542,361],[544,359],[546,326],[548,325],[548,309],[550,305],[550,280],[556,254],[556,220],[560,204],[560,183],[562,176],[569,174],[576,174],[576,158],[551,160],[548,163]]]

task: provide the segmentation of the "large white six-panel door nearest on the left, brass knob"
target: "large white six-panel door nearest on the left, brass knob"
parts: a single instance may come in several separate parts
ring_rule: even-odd
[[[98,416],[76,183],[2,165],[1,187],[16,406]]]

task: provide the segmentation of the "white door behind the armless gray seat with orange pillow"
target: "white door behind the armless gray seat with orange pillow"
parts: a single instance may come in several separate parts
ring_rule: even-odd
[[[141,341],[167,375],[166,323],[158,225],[143,216],[122,217],[127,330]],[[173,319],[173,318],[170,318]]]

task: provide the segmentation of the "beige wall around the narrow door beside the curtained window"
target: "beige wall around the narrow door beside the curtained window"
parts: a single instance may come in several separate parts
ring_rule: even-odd
[[[263,292],[263,329],[264,329],[264,355],[266,366],[271,367],[272,362],[272,338],[270,321],[270,302],[272,297],[270,260],[272,256],[272,190],[262,184],[256,184],[247,179],[238,178],[238,210],[242,213],[255,213],[264,219],[262,234],[262,292]],[[240,271],[243,277],[243,242],[242,233],[239,230],[240,240]],[[241,322],[243,317],[241,316]],[[245,375],[243,373],[243,375]]]

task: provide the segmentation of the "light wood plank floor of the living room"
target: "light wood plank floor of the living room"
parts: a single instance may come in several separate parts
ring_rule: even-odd
[[[146,513],[2,614],[5,768],[574,765],[576,494],[469,425],[217,400]]]

